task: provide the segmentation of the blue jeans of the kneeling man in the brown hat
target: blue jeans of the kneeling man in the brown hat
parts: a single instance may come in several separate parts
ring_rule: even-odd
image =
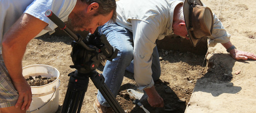
[[[128,29],[117,25],[116,23],[105,24],[99,27],[99,32],[105,34],[109,43],[115,48],[119,49],[117,57],[112,62],[107,61],[103,76],[105,83],[116,97],[118,90],[122,84],[125,70],[133,71],[133,33]],[[159,55],[155,47],[152,53],[152,78],[158,80],[161,75],[161,68],[159,63]],[[109,107],[110,105],[98,91],[97,98],[101,105]]]

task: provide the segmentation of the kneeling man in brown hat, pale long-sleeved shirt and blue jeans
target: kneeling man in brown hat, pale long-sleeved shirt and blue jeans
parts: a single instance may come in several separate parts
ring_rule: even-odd
[[[237,50],[232,45],[230,34],[209,8],[204,7],[201,11],[201,8],[197,8],[203,6],[199,0],[195,1],[195,5],[194,0],[188,1],[189,3],[184,4],[186,5],[184,12],[184,2],[179,0],[121,0],[117,2],[116,23],[105,24],[99,29],[99,32],[107,36],[110,44],[120,50],[112,62],[107,61],[103,71],[105,83],[114,96],[117,95],[124,72],[127,70],[134,72],[138,89],[145,90],[152,107],[164,106],[163,98],[154,88],[154,81],[158,80],[161,75],[155,41],[171,33],[190,39],[195,46],[200,38],[208,36],[210,46],[221,43],[234,59],[256,60],[256,55]],[[194,10],[189,10],[191,7],[199,12],[192,12]],[[189,14],[195,14],[195,16],[190,18]],[[199,18],[200,16],[197,17],[197,14],[203,14],[206,21]],[[133,66],[134,70],[130,70]],[[95,105],[102,109],[109,106],[100,92],[98,92]]]

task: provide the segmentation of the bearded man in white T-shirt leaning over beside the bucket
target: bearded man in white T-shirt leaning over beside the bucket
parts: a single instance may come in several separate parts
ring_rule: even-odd
[[[21,61],[31,39],[57,27],[45,16],[47,10],[62,21],[70,18],[74,30],[90,33],[116,18],[114,0],[0,1],[0,112],[26,112],[29,108],[31,89],[22,75]]]

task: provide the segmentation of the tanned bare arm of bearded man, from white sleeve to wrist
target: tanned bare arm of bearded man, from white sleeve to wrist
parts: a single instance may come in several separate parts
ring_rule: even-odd
[[[22,58],[27,43],[40,33],[47,23],[28,14],[23,14],[2,39],[3,59],[12,80],[22,78]]]

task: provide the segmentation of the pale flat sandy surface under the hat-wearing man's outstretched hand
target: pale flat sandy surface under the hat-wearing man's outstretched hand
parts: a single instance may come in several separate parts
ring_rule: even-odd
[[[204,3],[219,15],[238,49],[256,53],[254,1]],[[207,59],[210,70],[197,80],[185,112],[256,112],[256,62],[233,60],[220,45],[210,47],[209,51],[211,53]]]

